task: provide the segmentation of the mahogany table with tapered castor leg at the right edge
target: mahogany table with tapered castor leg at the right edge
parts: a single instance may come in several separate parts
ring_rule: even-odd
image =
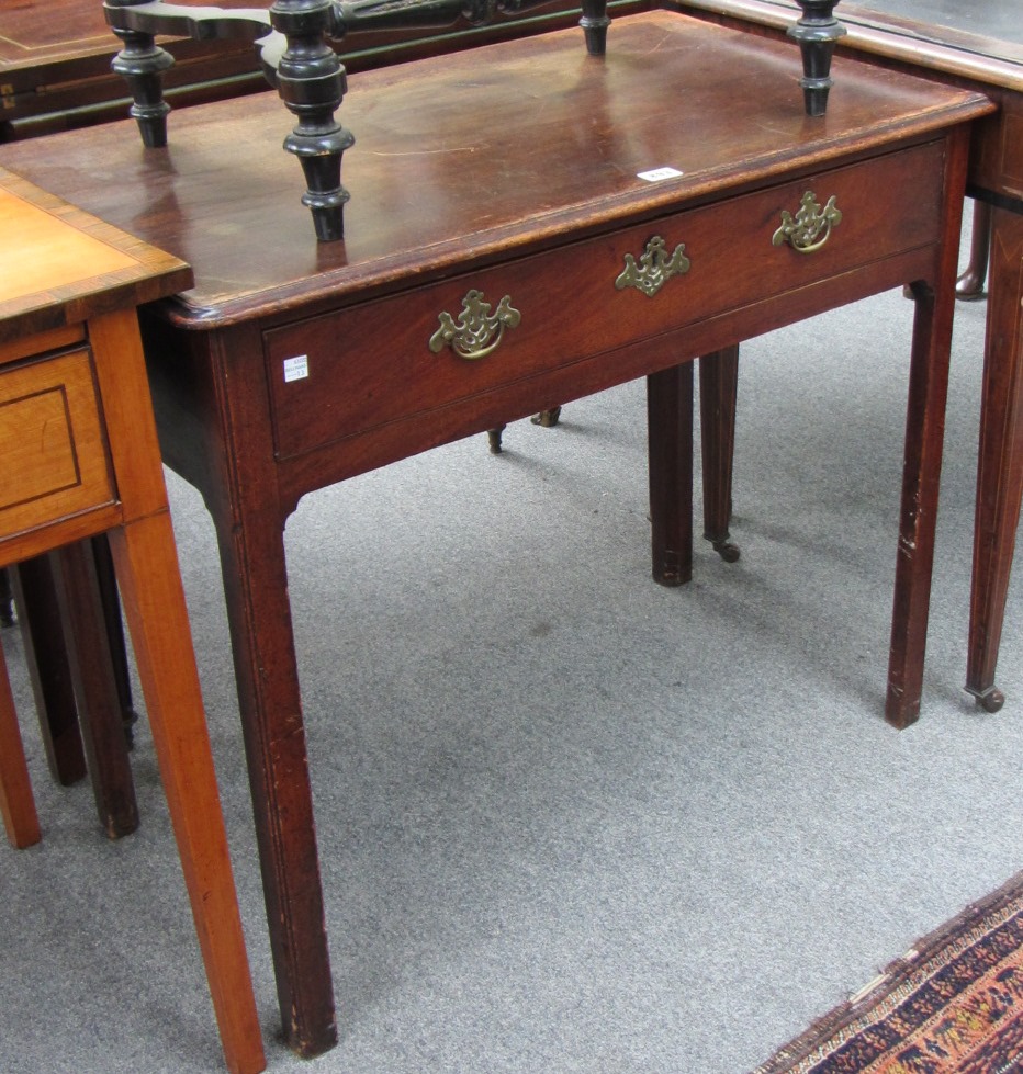
[[[791,0],[681,0],[673,7],[779,36],[796,10]],[[997,0],[862,0],[843,3],[841,14],[848,26],[842,50],[982,90],[999,105],[975,125],[967,188],[983,205],[978,215],[990,235],[981,245],[991,260],[966,690],[993,712],[1004,702],[996,669],[1023,502],[1023,23],[1015,4]]]

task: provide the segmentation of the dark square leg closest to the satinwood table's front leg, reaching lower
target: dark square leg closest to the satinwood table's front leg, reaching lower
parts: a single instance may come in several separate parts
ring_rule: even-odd
[[[138,806],[92,546],[69,544],[50,553],[50,563],[95,806],[103,829],[116,839],[138,827]]]

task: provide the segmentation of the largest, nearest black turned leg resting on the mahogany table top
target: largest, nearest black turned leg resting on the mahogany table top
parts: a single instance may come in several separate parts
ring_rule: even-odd
[[[347,90],[345,68],[325,35],[336,33],[330,0],[276,0],[273,29],[288,45],[277,69],[281,100],[297,116],[284,139],[305,173],[302,203],[313,213],[316,238],[329,242],[344,236],[344,208],[349,193],[341,185],[341,154],[355,142],[334,113]]]

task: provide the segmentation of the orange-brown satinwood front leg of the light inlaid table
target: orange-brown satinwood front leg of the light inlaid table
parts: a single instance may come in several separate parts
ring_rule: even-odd
[[[135,312],[92,318],[89,338],[124,518],[110,550],[178,856],[224,1058],[233,1074],[257,1074],[262,1036]]]

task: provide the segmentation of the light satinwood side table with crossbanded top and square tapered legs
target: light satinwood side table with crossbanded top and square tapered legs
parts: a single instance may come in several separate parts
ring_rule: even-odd
[[[178,573],[136,305],[191,270],[0,169],[0,565],[53,552],[70,674],[87,702],[110,676],[95,561],[110,531],[186,885],[227,1066],[263,1069],[262,1041]],[[90,767],[114,790],[112,833],[136,823],[120,710],[86,703]],[[87,728],[88,730],[88,728]],[[11,841],[38,838],[13,699],[0,681],[0,794]],[[102,747],[102,748],[101,748]]]

